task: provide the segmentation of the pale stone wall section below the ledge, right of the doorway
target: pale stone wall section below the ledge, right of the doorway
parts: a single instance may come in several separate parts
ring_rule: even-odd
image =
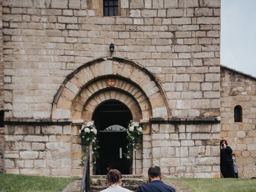
[[[168,177],[219,178],[220,124],[185,122],[152,122],[153,165]]]

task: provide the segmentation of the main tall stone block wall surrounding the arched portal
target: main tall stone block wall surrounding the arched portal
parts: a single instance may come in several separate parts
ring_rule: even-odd
[[[164,120],[153,123],[152,129],[148,126],[142,150],[136,152],[136,172],[145,173],[152,164],[159,164],[170,176],[218,177],[218,152],[215,143],[210,143],[219,136],[218,120],[194,125],[194,119],[220,116],[220,0],[120,0],[121,12],[116,17],[102,17],[100,2],[3,2],[7,120],[50,119],[54,96],[68,74],[96,58],[108,58],[113,42],[113,57],[132,60],[157,77],[170,107],[166,116],[191,118],[190,123],[185,119],[180,125]],[[93,68],[101,71],[97,65]],[[139,73],[134,75],[142,78]],[[84,82],[78,77],[77,82],[80,80]],[[73,83],[66,91],[76,94],[79,90]],[[67,100],[62,101],[58,104],[71,110]],[[152,105],[152,112],[156,109]],[[62,116],[58,115],[56,119]],[[148,119],[150,112],[146,116]],[[77,126],[68,125],[71,133],[64,134],[65,126],[31,124],[6,125],[8,172],[80,175],[77,164],[82,149]],[[68,157],[62,153],[65,147]],[[168,157],[163,157],[166,150]]]

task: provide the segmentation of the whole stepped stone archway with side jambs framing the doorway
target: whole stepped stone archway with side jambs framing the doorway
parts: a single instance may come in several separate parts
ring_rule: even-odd
[[[108,86],[106,80],[114,78],[116,84]],[[54,97],[52,118],[68,118],[73,122],[91,120],[94,110],[102,102],[118,100],[124,103],[132,113],[132,119],[144,122],[144,138],[136,150],[137,167],[132,173],[142,174],[152,164],[152,149],[148,144],[151,138],[149,118],[167,118],[171,116],[166,94],[157,78],[135,62],[120,58],[100,58],[80,66],[69,74]],[[78,147],[79,123],[72,128],[72,172],[80,172],[81,148]],[[144,143],[145,142],[145,143]],[[73,147],[74,145],[74,147]],[[143,146],[146,146],[145,148]],[[142,166],[142,160],[147,167]],[[151,162],[151,163],[150,163]]]

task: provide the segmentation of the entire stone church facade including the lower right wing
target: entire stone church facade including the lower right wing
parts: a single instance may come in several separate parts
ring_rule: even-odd
[[[2,1],[6,172],[81,176],[84,120],[94,120],[102,149],[121,151],[125,136],[107,134],[106,125],[140,120],[142,141],[122,164],[126,174],[158,165],[169,177],[218,178],[224,138],[240,176],[255,176],[256,81],[220,66],[220,1],[103,2]],[[106,16],[110,2],[116,16]],[[234,122],[238,105],[242,122]],[[110,145],[111,134],[120,142]]]

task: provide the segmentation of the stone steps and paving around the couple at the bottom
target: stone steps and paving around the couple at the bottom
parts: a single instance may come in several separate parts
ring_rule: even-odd
[[[147,182],[145,175],[122,175],[122,187],[131,191],[136,191],[138,186]],[[105,184],[105,176],[91,176],[90,192],[100,192],[108,186]],[[188,188],[178,181],[164,179],[164,183],[174,187],[176,192],[191,192]],[[75,180],[70,183],[62,192],[80,192],[81,180]]]

